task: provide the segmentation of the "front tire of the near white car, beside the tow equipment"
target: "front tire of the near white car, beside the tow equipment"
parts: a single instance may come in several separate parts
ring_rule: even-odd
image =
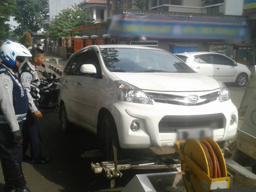
[[[113,116],[110,113],[107,113],[101,123],[99,123],[99,149],[103,157],[106,158],[106,161],[114,160],[114,151],[113,145],[117,148],[117,157],[121,159],[121,147],[119,145],[117,126]]]

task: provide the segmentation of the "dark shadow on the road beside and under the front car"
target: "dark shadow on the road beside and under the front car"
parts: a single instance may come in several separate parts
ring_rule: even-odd
[[[94,175],[90,169],[91,162],[102,162],[103,159],[85,159],[81,154],[87,150],[97,150],[97,136],[74,126],[69,135],[63,135],[56,110],[43,111],[42,139],[43,155],[53,158],[46,165],[33,165],[48,181],[62,186],[61,192],[84,192],[108,189],[110,180],[102,174]],[[125,186],[135,173],[117,179],[116,186]],[[53,191],[56,191],[56,189]]]

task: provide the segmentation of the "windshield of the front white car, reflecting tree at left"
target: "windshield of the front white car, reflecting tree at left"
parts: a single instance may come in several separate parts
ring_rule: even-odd
[[[149,49],[101,49],[105,65],[112,72],[195,73],[167,51]]]

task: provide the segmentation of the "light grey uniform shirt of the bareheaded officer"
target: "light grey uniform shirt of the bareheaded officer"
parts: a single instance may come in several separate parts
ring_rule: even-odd
[[[38,89],[40,79],[37,74],[37,68],[34,65],[32,65],[29,61],[27,61],[27,65],[26,63],[24,65],[21,69],[21,83],[27,91],[27,97],[29,98],[29,109],[32,113],[34,113],[38,110],[33,100],[40,98]],[[26,68],[24,69],[24,67]]]

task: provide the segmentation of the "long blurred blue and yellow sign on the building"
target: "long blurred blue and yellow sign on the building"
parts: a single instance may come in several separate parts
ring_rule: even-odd
[[[114,15],[109,34],[170,39],[246,39],[245,19],[185,18],[159,15]]]

